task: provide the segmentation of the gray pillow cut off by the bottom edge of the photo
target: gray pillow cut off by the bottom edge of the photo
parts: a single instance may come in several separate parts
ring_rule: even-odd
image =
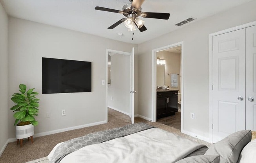
[[[200,155],[181,159],[176,163],[219,163],[219,155]]]

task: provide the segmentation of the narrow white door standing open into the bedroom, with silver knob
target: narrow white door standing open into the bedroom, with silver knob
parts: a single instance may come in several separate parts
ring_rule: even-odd
[[[130,118],[134,123],[134,47],[130,55]]]

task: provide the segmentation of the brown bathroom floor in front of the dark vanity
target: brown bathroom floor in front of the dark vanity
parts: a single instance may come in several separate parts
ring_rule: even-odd
[[[157,119],[157,122],[180,130],[181,129],[181,112],[176,112],[176,114],[173,116],[159,118]]]

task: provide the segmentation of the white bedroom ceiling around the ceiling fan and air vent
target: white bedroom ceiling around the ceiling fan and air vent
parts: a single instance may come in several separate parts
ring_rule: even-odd
[[[124,24],[107,29],[124,18],[123,14],[94,9],[100,6],[122,10],[123,5],[130,3],[129,0],[0,0],[7,14],[16,18],[135,44],[179,29],[181,27],[175,24],[191,16],[198,21],[249,1],[252,0],[145,0],[142,11],[170,13],[170,18],[141,18],[147,30],[141,33],[137,29],[132,40],[132,32],[128,32]],[[123,36],[118,36],[118,33],[123,33]]]

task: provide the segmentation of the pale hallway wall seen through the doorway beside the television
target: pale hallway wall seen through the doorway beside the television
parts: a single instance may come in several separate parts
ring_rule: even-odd
[[[111,56],[110,78],[108,106],[130,115],[130,56],[123,54]]]

